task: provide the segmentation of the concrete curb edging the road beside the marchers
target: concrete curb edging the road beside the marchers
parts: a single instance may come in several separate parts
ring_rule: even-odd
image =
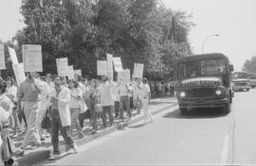
[[[158,108],[155,109],[155,111],[152,111],[152,115],[158,114],[161,111],[167,109],[167,108],[174,108],[177,105],[177,103],[171,103],[171,105],[168,105],[164,108]],[[96,133],[94,135],[86,136],[82,140],[75,141],[78,146],[83,145],[87,142],[94,141],[97,138],[101,138],[105,135],[108,135],[110,133],[113,133],[116,130],[120,130],[124,127],[127,127],[129,125],[134,125],[143,120],[144,117],[135,117],[129,122],[119,123],[117,125],[113,125],[111,127],[106,128],[105,130],[101,131],[100,133]],[[64,143],[60,142],[60,151],[64,152],[66,149],[66,146]],[[36,163],[42,162],[50,157],[50,150],[52,150],[52,147],[46,148],[46,149],[40,149],[39,151],[35,151],[32,153],[29,153],[25,155],[23,158],[17,158],[15,160],[15,163],[13,165],[36,165]]]

